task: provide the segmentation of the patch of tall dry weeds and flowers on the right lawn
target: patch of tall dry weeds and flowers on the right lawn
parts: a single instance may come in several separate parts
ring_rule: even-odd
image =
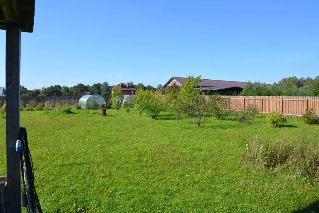
[[[254,169],[274,169],[278,166],[293,173],[319,178],[319,153],[316,143],[308,143],[306,137],[298,137],[293,145],[284,141],[266,142],[255,137],[239,154],[239,161]]]

